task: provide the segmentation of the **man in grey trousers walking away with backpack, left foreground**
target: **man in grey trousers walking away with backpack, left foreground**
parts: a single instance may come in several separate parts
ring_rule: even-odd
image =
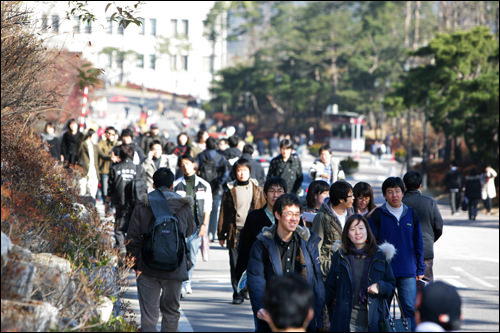
[[[168,168],[160,168],[153,175],[155,189],[162,191],[167,204],[179,221],[181,233],[189,237],[195,230],[191,198],[182,198],[172,191],[174,175]],[[186,259],[172,272],[150,268],[142,257],[143,235],[155,221],[149,203],[137,205],[132,213],[127,239],[129,253],[136,260],[137,293],[141,309],[141,331],[156,332],[159,312],[162,314],[161,331],[177,332],[180,318],[182,281],[188,278]]]

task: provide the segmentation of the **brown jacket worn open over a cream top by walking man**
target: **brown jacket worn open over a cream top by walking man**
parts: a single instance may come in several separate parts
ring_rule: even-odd
[[[253,185],[253,197],[252,203],[250,204],[251,212],[254,209],[262,208],[266,205],[266,199],[264,198],[263,188],[259,186],[259,183],[250,178],[250,183]],[[220,214],[219,214],[219,225],[217,236],[219,240],[227,241],[227,248],[236,247],[236,181],[227,183],[224,194],[222,195]]]

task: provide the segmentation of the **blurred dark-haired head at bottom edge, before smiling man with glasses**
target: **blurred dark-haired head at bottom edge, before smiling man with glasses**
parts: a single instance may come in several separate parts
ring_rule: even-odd
[[[302,276],[285,273],[269,279],[262,302],[276,328],[299,328],[314,307],[314,293]]]

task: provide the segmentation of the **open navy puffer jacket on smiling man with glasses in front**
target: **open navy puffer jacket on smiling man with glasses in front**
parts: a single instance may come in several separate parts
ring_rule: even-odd
[[[283,274],[278,245],[274,240],[276,228],[276,225],[263,228],[250,250],[247,284],[254,317],[263,307],[262,297],[266,289],[266,281],[272,276]],[[314,318],[309,324],[308,331],[316,331],[322,326],[321,314],[325,304],[325,286],[321,277],[318,252],[320,238],[306,227],[297,226],[295,232],[300,240],[303,271],[307,276],[306,280],[313,288],[315,297]],[[257,331],[270,331],[270,329],[266,322],[259,319]]]

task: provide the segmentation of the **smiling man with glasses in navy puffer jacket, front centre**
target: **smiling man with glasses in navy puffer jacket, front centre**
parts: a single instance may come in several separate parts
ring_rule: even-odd
[[[299,226],[300,202],[294,194],[283,194],[273,206],[276,223],[262,229],[250,251],[247,284],[257,332],[270,332],[263,317],[266,282],[276,275],[295,272],[302,275],[314,292],[314,318],[309,330],[322,328],[325,287],[319,264],[319,237]]]

